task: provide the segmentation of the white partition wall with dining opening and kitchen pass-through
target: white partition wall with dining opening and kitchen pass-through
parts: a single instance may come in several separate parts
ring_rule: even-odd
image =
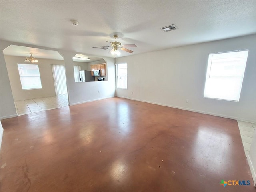
[[[0,63],[1,119],[17,116],[16,109],[14,106],[14,99],[12,96],[12,90],[10,86],[10,80],[9,80],[8,72],[6,68],[6,62],[4,60],[4,55],[3,55],[3,50],[11,44],[18,45],[18,46],[46,49],[46,50],[54,50],[54,51],[58,51],[63,56],[64,65],[66,69],[68,99],[69,99],[70,105],[89,102],[93,100],[100,100],[104,98],[110,98],[116,95],[114,58],[104,58],[104,60],[107,63],[108,74],[109,76],[111,76],[110,78],[108,78],[108,81],[75,83],[73,66],[77,65],[77,62],[73,62],[72,57],[75,54],[86,54],[86,53],[76,53],[76,52],[58,50],[54,48],[47,48],[42,46],[35,46],[35,45],[22,44],[17,42],[8,42],[8,41],[1,40],[1,63]],[[99,57],[99,56],[93,56],[93,57]]]

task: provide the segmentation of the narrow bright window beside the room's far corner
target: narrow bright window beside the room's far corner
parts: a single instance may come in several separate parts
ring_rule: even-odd
[[[117,87],[127,89],[127,64],[117,64]]]

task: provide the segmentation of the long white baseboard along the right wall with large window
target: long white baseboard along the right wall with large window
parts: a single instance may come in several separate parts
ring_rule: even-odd
[[[242,118],[238,118],[238,117],[234,117],[234,116],[222,115],[222,114],[211,113],[211,112],[206,112],[206,111],[201,111],[201,110],[195,110],[195,109],[190,109],[190,108],[185,108],[185,107],[179,107],[179,106],[173,106],[173,105],[166,105],[166,104],[162,104],[162,103],[150,102],[150,101],[140,100],[140,99],[134,99],[134,98],[130,98],[130,97],[123,97],[123,96],[117,96],[117,97],[125,98],[125,99],[130,99],[130,100],[135,100],[135,101],[146,102],[146,103],[151,103],[151,104],[156,104],[156,105],[161,105],[161,106],[166,106],[166,107],[177,108],[177,109],[182,109],[182,110],[186,110],[186,111],[192,111],[192,112],[197,112],[197,113],[202,113],[202,114],[207,114],[207,115],[213,115],[213,116],[218,116],[218,117],[224,117],[224,118],[229,118],[229,119],[235,119],[235,120],[240,120],[240,121],[246,121],[246,122],[255,123],[255,122],[252,121],[252,120],[249,120],[249,119],[242,119]]]

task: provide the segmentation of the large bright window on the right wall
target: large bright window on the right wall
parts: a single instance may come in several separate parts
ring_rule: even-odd
[[[209,54],[204,98],[239,101],[248,50]]]

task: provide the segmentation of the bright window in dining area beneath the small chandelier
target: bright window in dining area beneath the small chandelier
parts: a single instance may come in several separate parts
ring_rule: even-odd
[[[23,90],[42,89],[38,65],[18,64],[20,82]]]

